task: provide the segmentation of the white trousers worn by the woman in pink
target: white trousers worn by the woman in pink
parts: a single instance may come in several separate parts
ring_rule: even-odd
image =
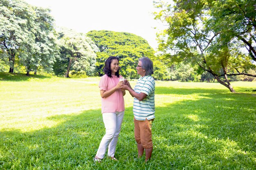
[[[106,128],[106,134],[102,137],[96,156],[104,158],[108,148],[108,156],[114,157],[117,140],[121,131],[121,124],[124,119],[124,111],[115,113],[103,113],[103,122]]]

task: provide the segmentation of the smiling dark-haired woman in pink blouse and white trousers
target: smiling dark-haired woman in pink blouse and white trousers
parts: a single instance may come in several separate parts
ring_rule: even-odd
[[[99,88],[101,93],[101,113],[106,128],[106,134],[101,139],[94,161],[100,162],[104,158],[108,147],[108,157],[115,158],[118,136],[124,118],[124,95],[125,90],[121,89],[124,81],[119,81],[119,59],[110,56],[105,62]]]

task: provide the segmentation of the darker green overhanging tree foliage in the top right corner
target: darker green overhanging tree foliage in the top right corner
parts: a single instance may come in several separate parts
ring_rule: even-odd
[[[256,61],[256,0],[213,1],[209,20],[213,30],[220,33],[219,40],[227,44],[236,39],[252,60]]]

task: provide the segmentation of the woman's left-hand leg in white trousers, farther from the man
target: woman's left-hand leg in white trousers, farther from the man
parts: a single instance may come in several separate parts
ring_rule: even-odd
[[[116,113],[103,113],[103,122],[106,128],[106,134],[102,137],[101,143],[99,144],[99,148],[96,154],[96,157],[103,159],[110,144],[110,141],[113,139],[116,133],[116,121],[117,115]]]

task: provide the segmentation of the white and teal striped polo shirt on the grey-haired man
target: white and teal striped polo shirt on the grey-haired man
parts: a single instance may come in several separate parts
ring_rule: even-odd
[[[134,98],[133,115],[136,120],[155,118],[155,80],[151,75],[140,77],[133,89],[136,93],[145,93],[147,96],[142,101]]]

